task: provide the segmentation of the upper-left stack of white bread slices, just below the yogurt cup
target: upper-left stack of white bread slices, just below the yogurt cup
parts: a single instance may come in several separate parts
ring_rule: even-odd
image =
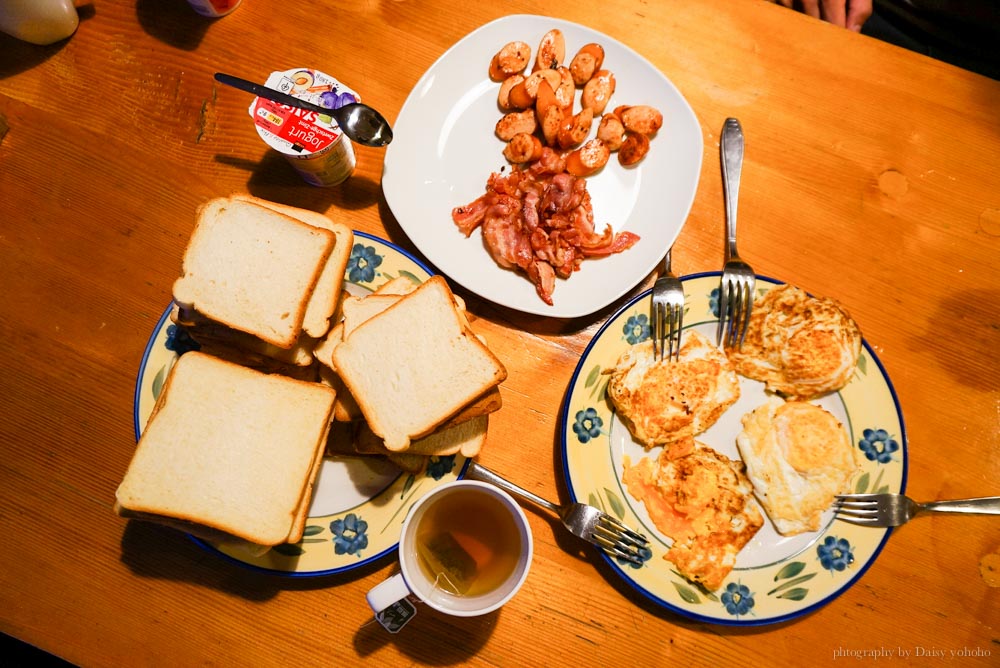
[[[329,217],[235,195],[210,200],[174,283],[171,319],[206,352],[315,380],[354,233]]]

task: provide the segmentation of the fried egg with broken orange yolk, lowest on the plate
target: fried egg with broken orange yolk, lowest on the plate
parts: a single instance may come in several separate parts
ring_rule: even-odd
[[[664,559],[691,582],[715,591],[736,566],[736,556],[764,525],[742,462],[695,442],[690,454],[666,451],[631,465],[622,482],[641,501],[656,528],[673,540]]]

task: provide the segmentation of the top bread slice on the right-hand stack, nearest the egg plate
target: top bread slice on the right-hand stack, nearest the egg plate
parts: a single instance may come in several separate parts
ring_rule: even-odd
[[[389,450],[405,450],[507,377],[463,321],[434,276],[334,349],[337,373]]]

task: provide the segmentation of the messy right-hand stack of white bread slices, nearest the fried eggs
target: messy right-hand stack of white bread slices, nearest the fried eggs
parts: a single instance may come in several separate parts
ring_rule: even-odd
[[[353,425],[351,437],[331,438],[330,452],[386,456],[410,472],[430,456],[476,456],[507,371],[447,282],[395,279],[345,297],[342,311],[314,350],[338,390],[335,419]]]

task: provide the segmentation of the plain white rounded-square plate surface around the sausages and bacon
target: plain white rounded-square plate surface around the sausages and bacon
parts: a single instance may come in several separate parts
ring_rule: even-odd
[[[623,168],[614,155],[587,179],[598,230],[610,224],[640,241],[629,250],[585,260],[568,279],[557,279],[554,305],[545,304],[520,273],[500,268],[479,231],[466,238],[451,219],[456,206],[486,191],[493,172],[509,169],[494,134],[503,115],[499,84],[487,76],[493,54],[512,40],[532,45],[559,28],[567,59],[588,42],[605,50],[604,67],[617,79],[609,109],[649,104],[663,113],[663,128],[646,158]],[[579,95],[579,91],[577,91]],[[574,108],[579,108],[579,104]],[[596,133],[597,123],[592,133]],[[698,187],[703,140],[694,112],[677,88],[648,60],[599,32],[545,16],[514,15],[488,23],[452,46],[420,78],[393,127],[382,189],[411,241],[438,270],[466,289],[518,311],[560,318],[589,315],[624,295],[666,253],[687,219]]]

